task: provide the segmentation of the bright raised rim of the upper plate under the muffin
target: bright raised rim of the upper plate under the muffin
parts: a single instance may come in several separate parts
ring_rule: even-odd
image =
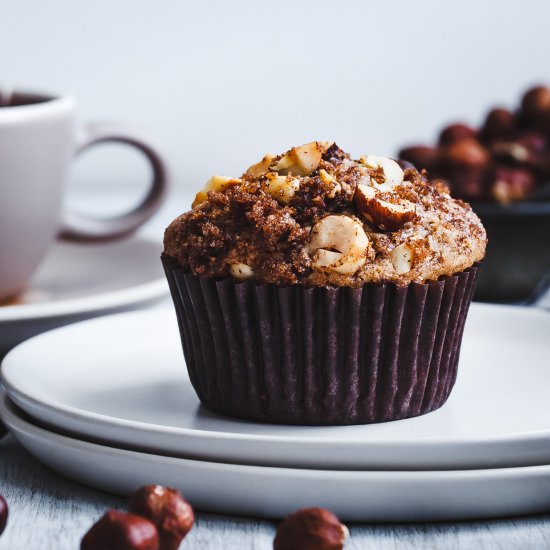
[[[475,309],[481,309],[481,310],[490,310],[490,309],[497,309],[499,311],[502,311],[503,309],[507,309],[510,311],[513,311],[514,313],[517,313],[518,311],[525,312],[527,315],[537,315],[541,314],[546,316],[546,312],[539,312],[539,310],[529,308],[529,307],[521,307],[521,306],[502,306],[502,305],[495,305],[495,304],[483,304],[483,303],[475,303],[473,304],[473,307]],[[124,313],[118,313],[114,315],[108,315],[103,316],[100,318],[90,319],[86,321],[81,321],[79,323],[74,323],[69,326],[60,327],[57,329],[54,329],[53,331],[70,331],[75,326],[79,326],[83,323],[97,323],[102,324],[106,321],[110,320],[117,320],[118,318],[124,318],[124,317],[140,317],[140,318],[146,318],[150,316],[157,316],[157,317],[166,317],[170,315],[172,312],[171,308],[163,308],[158,310],[145,310],[145,311],[133,311],[133,312],[124,312]],[[175,322],[175,321],[174,321]],[[8,394],[11,397],[11,394],[13,393],[15,396],[23,396],[23,400],[31,401],[39,406],[39,408],[46,409],[49,411],[54,411],[55,414],[63,414],[65,417],[71,417],[71,418],[78,418],[81,421],[85,422],[93,422],[96,426],[108,423],[109,425],[114,425],[118,428],[131,428],[132,430],[135,430],[137,432],[147,432],[147,433],[168,433],[168,434],[174,434],[178,437],[184,437],[184,436],[190,436],[192,438],[198,438],[198,439],[214,439],[214,440],[226,440],[226,441],[247,441],[247,442],[269,442],[269,443],[281,443],[281,444],[294,444],[297,442],[302,441],[303,437],[298,435],[263,435],[263,434],[246,434],[242,432],[222,432],[222,431],[215,431],[215,430],[196,430],[193,428],[186,428],[186,427],[170,427],[170,426],[162,426],[159,424],[151,424],[148,422],[142,422],[142,421],[134,421],[134,420],[125,420],[121,418],[116,418],[104,414],[99,414],[95,412],[85,411],[83,409],[73,407],[70,405],[65,404],[55,404],[53,402],[47,402],[39,399],[36,396],[33,396],[32,393],[25,393],[21,390],[17,389],[9,380],[8,377],[6,377],[6,368],[5,365],[8,364],[8,362],[11,360],[12,356],[17,353],[17,350],[22,347],[28,345],[29,342],[35,341],[36,339],[43,339],[47,338],[50,332],[48,331],[42,334],[39,334],[33,338],[30,338],[29,340],[26,340],[25,342],[22,342],[18,346],[16,346],[13,350],[11,350],[6,357],[4,358],[2,362],[2,369],[0,370],[0,382],[4,385],[6,388]],[[183,360],[183,357],[182,357]],[[14,401],[18,401],[17,398],[14,398]],[[22,407],[24,409],[24,407]],[[364,440],[346,440],[343,441],[340,439],[334,439],[330,438],[328,436],[322,436],[322,437],[308,437],[307,438],[307,444],[309,445],[346,445],[346,447],[362,447],[362,446],[369,446],[369,447],[395,447],[395,448],[420,448],[420,447],[442,447],[442,446],[468,446],[468,445],[498,445],[502,444],[505,445],[507,443],[513,442],[514,444],[521,444],[521,443],[529,443],[538,441],[542,438],[548,438],[550,437],[550,427],[548,429],[539,429],[539,430],[532,430],[528,432],[511,432],[506,435],[496,435],[496,436],[470,436],[470,437],[438,437],[430,438],[430,437],[423,437],[423,438],[417,438],[414,439],[414,441],[395,441],[395,442],[388,442],[385,440],[381,440],[379,438],[376,438],[375,436],[372,438],[369,438],[369,441],[366,442]]]

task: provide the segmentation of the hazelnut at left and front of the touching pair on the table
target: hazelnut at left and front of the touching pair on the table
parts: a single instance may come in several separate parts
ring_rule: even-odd
[[[80,543],[80,550],[159,550],[157,528],[149,520],[108,510],[92,525]]]

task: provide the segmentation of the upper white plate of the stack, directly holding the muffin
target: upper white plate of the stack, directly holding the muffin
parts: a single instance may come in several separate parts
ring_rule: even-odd
[[[2,365],[10,397],[77,437],[186,458],[326,469],[550,463],[550,315],[474,304],[448,403],[384,424],[255,424],[209,412],[189,383],[171,310],[86,321],[29,340]]]

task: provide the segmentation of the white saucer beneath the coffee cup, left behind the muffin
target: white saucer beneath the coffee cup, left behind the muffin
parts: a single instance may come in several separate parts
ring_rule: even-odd
[[[29,290],[16,303],[0,307],[0,357],[39,332],[166,296],[161,251],[161,243],[144,238],[56,242]]]

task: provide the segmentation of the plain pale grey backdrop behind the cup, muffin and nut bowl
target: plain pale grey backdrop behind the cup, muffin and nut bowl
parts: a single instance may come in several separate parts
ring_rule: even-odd
[[[392,155],[478,123],[550,81],[549,17],[545,0],[0,0],[0,83],[144,126],[190,194],[312,139]],[[143,165],[102,148],[72,181],[143,188]]]

